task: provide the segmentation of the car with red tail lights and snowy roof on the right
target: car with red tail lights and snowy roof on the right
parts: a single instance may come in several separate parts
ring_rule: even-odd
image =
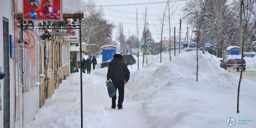
[[[233,68],[239,71],[241,67],[241,55],[227,55],[224,57],[223,60],[220,60],[220,68],[224,68],[227,70],[227,68]],[[246,62],[243,59],[243,71],[246,70]]]

